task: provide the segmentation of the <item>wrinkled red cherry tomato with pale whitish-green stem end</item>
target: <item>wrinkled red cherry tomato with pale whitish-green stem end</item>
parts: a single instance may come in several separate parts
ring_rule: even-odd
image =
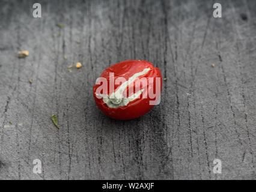
[[[160,100],[162,75],[159,68],[141,60],[119,62],[106,68],[93,88],[97,106],[114,119],[145,115]]]

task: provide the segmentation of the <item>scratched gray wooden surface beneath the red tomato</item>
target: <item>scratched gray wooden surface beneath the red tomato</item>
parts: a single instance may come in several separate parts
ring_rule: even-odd
[[[38,1],[41,18],[34,2],[0,1],[0,179],[256,179],[256,1],[218,1],[221,19],[214,1]],[[92,90],[127,59],[167,80],[116,121]]]

